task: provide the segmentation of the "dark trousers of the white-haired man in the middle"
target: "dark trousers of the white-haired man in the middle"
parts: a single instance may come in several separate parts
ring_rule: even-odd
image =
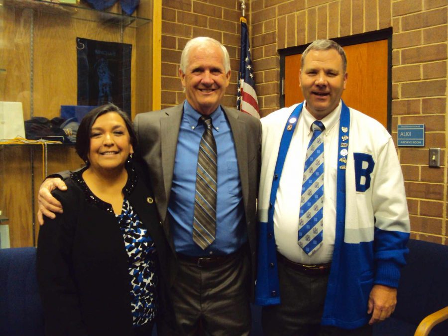
[[[171,297],[183,335],[249,335],[250,264],[245,249],[212,268],[179,263]]]

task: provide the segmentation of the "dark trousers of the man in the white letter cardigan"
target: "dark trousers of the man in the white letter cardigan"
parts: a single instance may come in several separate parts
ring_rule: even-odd
[[[280,305],[262,309],[265,336],[371,336],[371,326],[355,330],[321,326],[328,274],[309,275],[278,263]],[[367,307],[365,307],[367,310]]]

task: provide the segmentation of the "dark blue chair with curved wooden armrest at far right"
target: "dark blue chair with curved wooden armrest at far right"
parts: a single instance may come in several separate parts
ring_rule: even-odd
[[[448,321],[444,320],[448,319],[448,246],[410,239],[408,247],[397,307],[389,319],[375,325],[373,335],[447,336]],[[441,323],[432,331],[425,328],[435,325],[436,320]]]

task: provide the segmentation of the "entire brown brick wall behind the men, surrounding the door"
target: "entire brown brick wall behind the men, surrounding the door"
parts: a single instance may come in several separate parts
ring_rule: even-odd
[[[400,147],[411,214],[411,236],[448,245],[447,17],[448,0],[247,0],[246,16],[262,115],[279,108],[277,49],[393,27],[392,130],[425,123],[424,148]],[[191,37],[224,43],[232,84],[224,105],[234,106],[239,67],[238,0],[164,0],[162,105],[182,102],[180,53]],[[428,168],[430,147],[442,149],[441,168]]]

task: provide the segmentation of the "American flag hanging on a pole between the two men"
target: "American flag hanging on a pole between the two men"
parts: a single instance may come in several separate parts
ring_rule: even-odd
[[[238,72],[238,95],[236,108],[241,112],[249,113],[260,118],[255,81],[253,80],[252,65],[250,62],[249,34],[246,19],[241,17],[241,59]]]

